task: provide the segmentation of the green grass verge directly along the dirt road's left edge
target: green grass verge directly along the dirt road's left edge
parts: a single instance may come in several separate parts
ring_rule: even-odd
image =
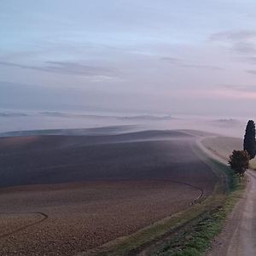
[[[244,183],[239,183],[238,177],[234,177],[234,187],[230,194],[225,198],[219,207],[210,212],[201,214],[194,224],[177,234],[170,237],[168,241],[161,244],[160,247],[154,247],[150,253],[146,255],[172,255],[172,256],[199,256],[202,255],[207,247],[209,247],[212,239],[222,230],[224,220],[232,211],[233,207],[241,198]]]

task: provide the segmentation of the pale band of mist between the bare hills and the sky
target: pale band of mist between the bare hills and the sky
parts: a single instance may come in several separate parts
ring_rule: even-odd
[[[170,114],[135,114],[135,113],[68,113],[68,112],[0,112],[0,132],[33,130],[76,129],[73,135],[90,133],[120,133],[143,130],[199,130],[230,137],[243,136],[247,119],[229,119],[217,117],[170,115]],[[110,126],[110,127],[109,127]],[[93,130],[88,128],[104,128]],[[81,129],[87,129],[81,131]],[[45,134],[53,131],[45,131]],[[61,132],[61,131],[60,131]],[[16,133],[20,135],[20,133]],[[21,133],[22,135],[22,133]],[[27,133],[26,135],[29,135]]]

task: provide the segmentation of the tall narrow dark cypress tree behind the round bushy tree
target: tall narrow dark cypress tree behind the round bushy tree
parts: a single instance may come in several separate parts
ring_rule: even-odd
[[[250,160],[255,157],[256,154],[256,142],[255,142],[255,124],[253,120],[249,120],[247,123],[246,133],[243,141],[243,150],[246,150],[250,156]]]

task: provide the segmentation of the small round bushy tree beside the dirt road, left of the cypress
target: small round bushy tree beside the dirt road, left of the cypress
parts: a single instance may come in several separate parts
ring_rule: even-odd
[[[246,150],[234,150],[230,155],[229,164],[235,173],[239,176],[244,176],[244,173],[249,167],[250,155]]]

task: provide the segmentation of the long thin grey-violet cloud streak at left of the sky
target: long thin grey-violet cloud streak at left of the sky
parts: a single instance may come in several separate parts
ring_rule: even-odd
[[[77,62],[68,61],[46,61],[44,66],[30,66],[13,62],[0,61],[0,65],[6,67],[20,67],[49,73],[61,73],[70,75],[81,75],[87,77],[111,77],[112,71],[103,67],[94,67]]]

